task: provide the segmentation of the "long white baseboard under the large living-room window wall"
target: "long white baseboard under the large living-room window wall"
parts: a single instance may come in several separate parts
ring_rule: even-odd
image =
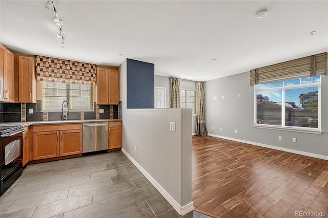
[[[235,138],[230,138],[230,137],[226,137],[226,136],[219,136],[219,135],[214,135],[214,134],[208,134],[208,136],[213,136],[213,137],[221,138],[221,139],[228,139],[228,140],[231,140],[231,141],[236,141],[236,142],[261,146],[261,147],[267,147],[267,148],[271,148],[271,149],[275,149],[275,150],[286,151],[286,152],[290,152],[290,153],[297,154],[297,155],[304,155],[304,156],[309,156],[309,157],[312,157],[312,158],[319,158],[319,159],[323,159],[323,160],[328,160],[328,156],[313,154],[313,153],[310,153],[310,152],[294,150],[294,149],[289,149],[289,148],[284,148],[284,147],[278,147],[278,146],[274,146],[274,145],[267,145],[267,144],[251,142],[251,141],[246,141],[246,140],[242,140],[242,139],[235,139]]]

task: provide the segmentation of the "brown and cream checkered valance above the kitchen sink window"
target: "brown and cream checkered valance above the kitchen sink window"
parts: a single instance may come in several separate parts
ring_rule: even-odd
[[[96,85],[96,66],[72,60],[36,56],[36,80]]]

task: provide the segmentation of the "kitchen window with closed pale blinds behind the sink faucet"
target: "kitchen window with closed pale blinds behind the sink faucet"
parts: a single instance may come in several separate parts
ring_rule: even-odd
[[[93,111],[92,85],[42,82],[43,111],[61,111],[65,100],[70,111]]]

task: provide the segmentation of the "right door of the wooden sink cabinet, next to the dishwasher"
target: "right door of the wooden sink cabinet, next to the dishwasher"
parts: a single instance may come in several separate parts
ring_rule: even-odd
[[[60,156],[82,154],[82,130],[60,131]]]

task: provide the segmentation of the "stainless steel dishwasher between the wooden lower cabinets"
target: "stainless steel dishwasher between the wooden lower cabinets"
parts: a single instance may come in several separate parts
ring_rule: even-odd
[[[82,152],[108,149],[108,123],[84,123],[82,127]]]

